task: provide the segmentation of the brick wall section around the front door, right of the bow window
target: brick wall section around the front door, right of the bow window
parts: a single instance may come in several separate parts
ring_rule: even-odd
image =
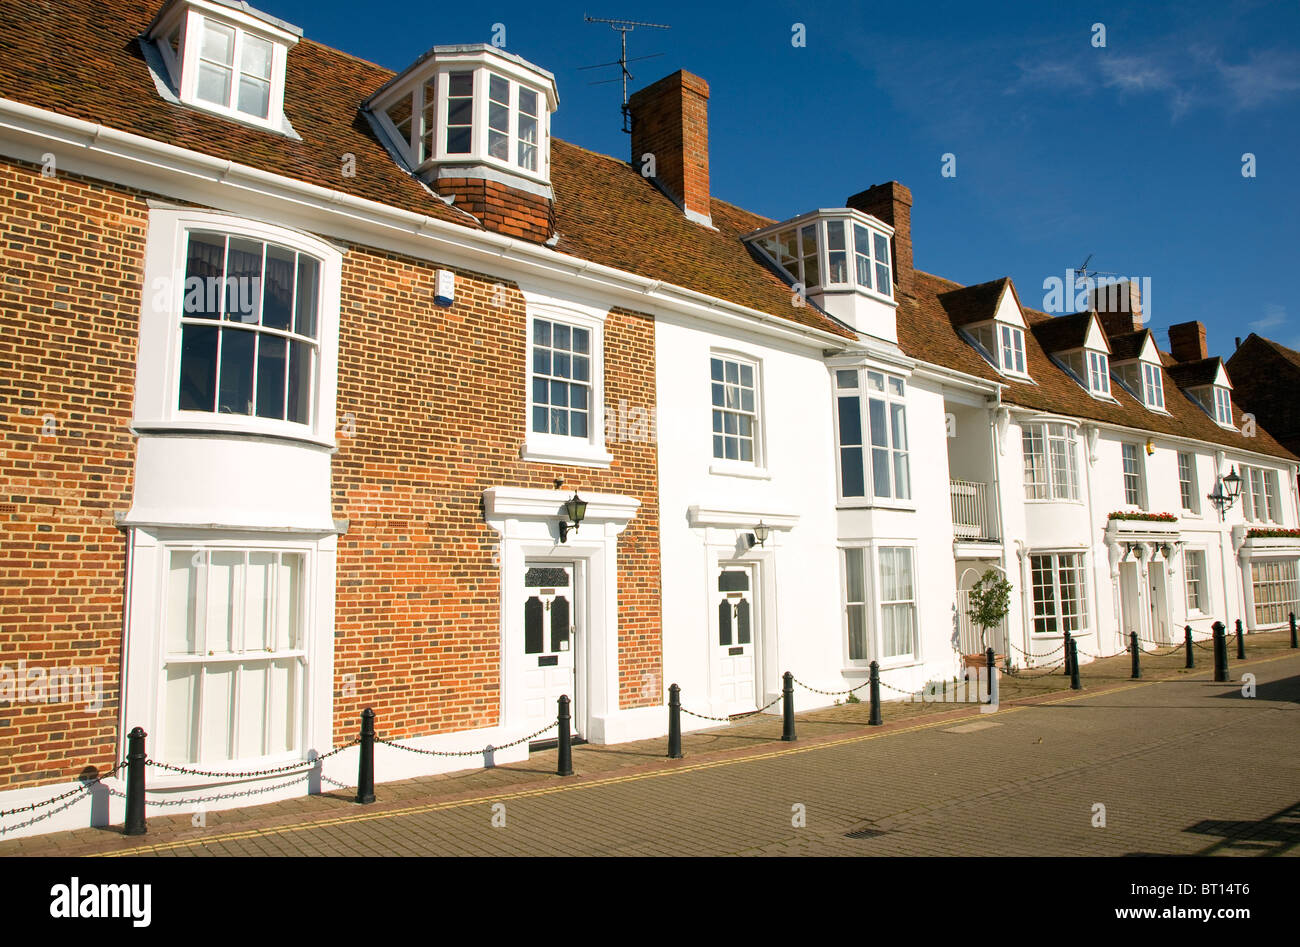
[[[627,493],[642,506],[619,537],[620,704],[662,700],[658,471],[653,442],[607,445],[608,471],[524,463],[526,324],[512,285],[456,271],[433,304],[437,267],[354,247],[343,267],[338,412],[355,433],[334,458],[339,539],[335,732],[372,706],[407,736],[499,722],[494,485]],[[606,405],[654,405],[654,321],[625,311],[604,333]],[[647,686],[649,684],[649,686]],[[352,691],[352,692],[350,692]]]

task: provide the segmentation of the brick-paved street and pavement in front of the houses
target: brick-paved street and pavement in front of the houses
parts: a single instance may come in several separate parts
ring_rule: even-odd
[[[1300,654],[1286,635],[1252,636],[1231,684],[1208,652],[1005,679],[1002,709],[866,704],[689,734],[688,758],[663,740],[554,752],[524,764],[224,813],[204,829],[152,817],[150,835],[78,830],[0,842],[0,855],[1130,855],[1300,852]],[[1258,679],[1253,700],[1240,675]],[[391,751],[390,751],[391,752]],[[493,827],[504,807],[504,827]],[[1095,827],[1095,805],[1105,827]],[[794,807],[806,826],[796,827]]]

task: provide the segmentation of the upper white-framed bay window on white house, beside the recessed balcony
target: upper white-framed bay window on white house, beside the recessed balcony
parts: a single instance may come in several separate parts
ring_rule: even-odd
[[[870,369],[841,368],[835,377],[840,496],[868,496],[870,471],[871,497],[910,500],[906,382]]]

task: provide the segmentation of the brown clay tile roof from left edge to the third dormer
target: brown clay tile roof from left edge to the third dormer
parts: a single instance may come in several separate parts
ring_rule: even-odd
[[[299,42],[289,52],[285,79],[285,114],[302,137],[294,140],[159,95],[138,36],[161,7],[162,0],[0,0],[0,95],[482,229],[398,167],[361,113],[391,70]],[[48,30],[32,29],[34,17],[58,25],[57,42]],[[341,174],[344,153],[356,156],[355,177]],[[770,220],[714,200],[718,229],[699,226],[628,164],[556,139],[551,178],[558,250],[854,338],[816,307],[793,306],[786,284],[740,241]]]

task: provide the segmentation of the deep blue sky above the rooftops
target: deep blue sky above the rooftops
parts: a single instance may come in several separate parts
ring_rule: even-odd
[[[1150,278],[1149,327],[1200,319],[1212,354],[1249,332],[1300,347],[1300,4],[259,0],[312,39],[393,69],[430,46],[490,42],[556,75],[554,133],[627,157],[618,34],[633,91],[708,81],[715,196],[771,217],[898,180],[916,265],[961,282],[1043,282],[1091,267]],[[806,46],[792,44],[794,23]],[[1105,26],[1095,47],[1093,23]],[[942,155],[956,177],[942,177]],[[1242,173],[1254,155],[1256,177]]]

